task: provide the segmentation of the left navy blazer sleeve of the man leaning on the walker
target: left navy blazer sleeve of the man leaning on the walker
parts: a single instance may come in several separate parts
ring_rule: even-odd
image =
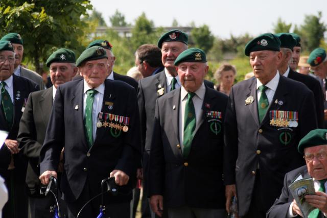
[[[63,107],[64,98],[59,86],[52,106],[48,128],[46,128],[44,143],[40,151],[40,174],[49,170],[57,171],[60,153],[65,140]]]

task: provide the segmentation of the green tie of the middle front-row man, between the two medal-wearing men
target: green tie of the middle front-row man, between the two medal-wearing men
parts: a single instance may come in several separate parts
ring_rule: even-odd
[[[196,126],[195,109],[192,98],[195,95],[194,92],[188,93],[188,101],[185,105],[184,113],[184,140],[183,140],[183,156],[187,158],[190,154],[191,144],[193,139],[193,133]]]

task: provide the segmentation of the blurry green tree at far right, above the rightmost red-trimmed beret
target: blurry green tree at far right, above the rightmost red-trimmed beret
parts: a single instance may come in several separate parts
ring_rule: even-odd
[[[318,12],[318,16],[306,15],[304,24],[301,25],[301,42],[309,51],[312,51],[316,49],[316,47],[319,47],[320,41],[323,40],[324,32],[326,31],[326,26],[321,21],[321,16],[321,12]]]

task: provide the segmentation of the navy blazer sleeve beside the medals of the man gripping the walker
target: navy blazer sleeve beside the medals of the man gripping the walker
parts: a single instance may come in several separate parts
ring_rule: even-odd
[[[115,169],[119,169],[131,176],[136,172],[136,168],[141,164],[141,141],[139,138],[139,117],[136,101],[136,90],[130,89],[127,114],[130,117],[129,131],[124,138],[124,148],[122,155],[116,164]]]

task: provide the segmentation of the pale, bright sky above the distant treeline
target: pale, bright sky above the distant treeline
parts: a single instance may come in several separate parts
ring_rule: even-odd
[[[318,11],[322,12],[322,21],[327,25],[326,0],[91,0],[91,4],[102,13],[108,25],[109,16],[116,9],[129,23],[134,23],[145,12],[156,27],[171,26],[174,18],[180,26],[189,26],[194,21],[196,26],[208,25],[212,33],[221,38],[229,38],[230,34],[255,36],[271,32],[278,17],[294,27],[303,23],[305,15],[317,15]]]

